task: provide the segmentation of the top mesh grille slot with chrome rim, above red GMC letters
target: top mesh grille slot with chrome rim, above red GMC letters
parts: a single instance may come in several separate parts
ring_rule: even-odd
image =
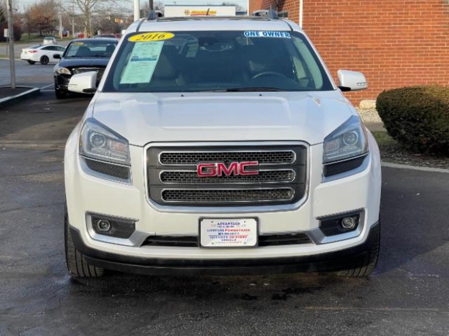
[[[163,152],[161,164],[198,164],[200,162],[258,161],[259,164],[291,164],[295,161],[293,151],[204,151]]]

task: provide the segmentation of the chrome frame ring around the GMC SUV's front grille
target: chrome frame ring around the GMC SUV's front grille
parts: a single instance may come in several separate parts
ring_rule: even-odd
[[[239,206],[239,207],[178,207],[178,206],[165,206],[153,202],[150,198],[150,189],[148,188],[148,162],[147,151],[151,146],[304,146],[306,148],[306,178],[304,196],[298,202],[292,204],[282,205],[258,205],[258,206]],[[264,213],[264,212],[283,212],[293,211],[299,209],[305,202],[307,202],[310,190],[310,145],[304,141],[260,141],[260,142],[150,142],[143,146],[143,160],[142,169],[144,172],[144,188],[145,188],[145,200],[155,210],[159,212],[172,212],[172,213],[202,213],[202,214],[245,214],[245,213]]]

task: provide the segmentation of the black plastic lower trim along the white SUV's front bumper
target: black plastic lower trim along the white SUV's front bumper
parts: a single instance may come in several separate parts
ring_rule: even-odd
[[[88,263],[110,269],[149,275],[243,275],[307,271],[339,271],[359,265],[376,240],[379,224],[374,224],[364,243],[345,250],[305,257],[242,259],[160,259],[112,254],[86,246],[79,230],[70,227],[75,248]]]

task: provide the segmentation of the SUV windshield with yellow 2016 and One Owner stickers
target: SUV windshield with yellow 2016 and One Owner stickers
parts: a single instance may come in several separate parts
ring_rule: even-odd
[[[128,35],[105,92],[333,90],[303,34],[184,31]]]

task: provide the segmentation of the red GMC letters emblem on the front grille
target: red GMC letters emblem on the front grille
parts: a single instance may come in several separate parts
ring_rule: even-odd
[[[258,175],[258,170],[250,170],[248,167],[257,166],[257,161],[231,162],[229,166],[224,163],[216,164],[198,164],[197,173],[201,177],[210,176],[234,176],[238,175]]]

